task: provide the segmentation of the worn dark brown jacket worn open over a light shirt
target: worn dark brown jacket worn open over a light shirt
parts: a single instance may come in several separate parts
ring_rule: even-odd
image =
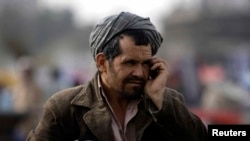
[[[162,110],[143,98],[133,118],[137,141],[205,141],[203,122],[184,105],[183,96],[166,88]],[[148,109],[151,110],[148,110]],[[27,141],[114,141],[109,110],[97,85],[97,76],[85,85],[63,90],[44,105],[44,114]]]

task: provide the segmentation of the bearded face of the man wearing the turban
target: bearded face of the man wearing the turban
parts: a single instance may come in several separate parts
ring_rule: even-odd
[[[108,87],[128,99],[140,97],[149,75],[150,45],[135,45],[129,36],[120,39],[121,54],[107,67]]]

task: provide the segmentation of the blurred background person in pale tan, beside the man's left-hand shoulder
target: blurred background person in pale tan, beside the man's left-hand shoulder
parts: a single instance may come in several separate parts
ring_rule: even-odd
[[[34,103],[40,103],[42,90],[35,81],[33,58],[23,56],[17,60],[17,82],[13,87],[15,112],[28,113],[36,110]]]

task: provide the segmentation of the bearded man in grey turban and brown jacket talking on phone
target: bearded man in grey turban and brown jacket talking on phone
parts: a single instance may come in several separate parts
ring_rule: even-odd
[[[98,72],[53,95],[28,141],[203,141],[203,122],[166,88],[162,36],[149,18],[121,12],[98,23],[90,46]]]

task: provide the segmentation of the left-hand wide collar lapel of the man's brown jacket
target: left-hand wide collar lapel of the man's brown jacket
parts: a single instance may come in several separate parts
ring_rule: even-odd
[[[98,73],[83,86],[80,94],[71,103],[90,109],[83,115],[83,120],[98,140],[114,140],[109,109],[103,101],[98,87]]]

